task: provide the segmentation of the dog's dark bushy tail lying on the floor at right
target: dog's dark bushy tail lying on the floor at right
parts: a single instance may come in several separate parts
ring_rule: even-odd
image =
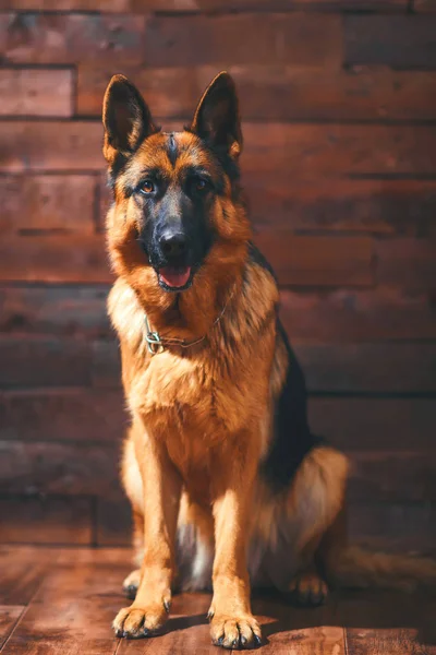
[[[436,560],[388,555],[350,546],[329,562],[328,577],[335,586],[390,588],[412,592],[436,588]]]

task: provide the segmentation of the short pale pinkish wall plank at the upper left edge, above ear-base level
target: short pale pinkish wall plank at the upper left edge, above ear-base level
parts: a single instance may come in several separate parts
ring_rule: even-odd
[[[1,69],[0,94],[0,116],[70,117],[73,71]]]

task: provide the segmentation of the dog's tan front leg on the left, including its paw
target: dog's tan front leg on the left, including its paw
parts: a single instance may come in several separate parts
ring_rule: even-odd
[[[153,633],[168,618],[182,486],[164,444],[148,436],[137,438],[135,453],[143,481],[144,560],[135,600],[113,621],[117,635],[131,639]]]

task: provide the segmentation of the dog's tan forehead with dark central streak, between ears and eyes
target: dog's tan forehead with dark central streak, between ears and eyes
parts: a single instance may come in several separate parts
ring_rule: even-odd
[[[192,132],[158,132],[144,141],[132,165],[132,174],[142,170],[161,170],[167,177],[177,177],[184,168],[203,168],[218,175],[218,166],[209,151]]]

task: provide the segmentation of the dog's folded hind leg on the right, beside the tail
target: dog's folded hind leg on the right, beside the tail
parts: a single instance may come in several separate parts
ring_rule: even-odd
[[[277,496],[261,487],[254,535],[264,555],[253,567],[255,584],[262,572],[262,584],[269,581],[299,605],[325,602],[342,534],[347,469],[344,455],[319,446],[304,457],[287,491]]]

